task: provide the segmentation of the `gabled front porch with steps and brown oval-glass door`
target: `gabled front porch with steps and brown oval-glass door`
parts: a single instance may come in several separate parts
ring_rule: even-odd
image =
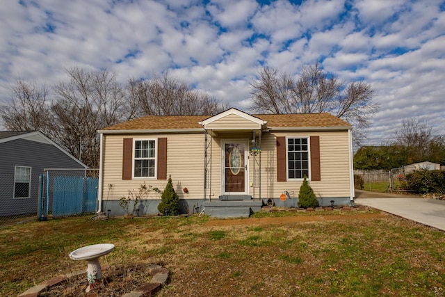
[[[261,211],[261,134],[266,122],[229,109],[200,125],[204,128],[204,213],[236,218]],[[212,199],[215,188],[218,200]]]

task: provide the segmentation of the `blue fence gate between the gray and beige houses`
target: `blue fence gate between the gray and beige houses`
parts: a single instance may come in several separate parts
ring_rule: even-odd
[[[97,169],[45,169],[39,216],[73,216],[96,211]]]

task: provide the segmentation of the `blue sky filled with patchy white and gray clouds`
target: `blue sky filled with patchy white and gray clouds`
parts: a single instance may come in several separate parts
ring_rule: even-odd
[[[317,61],[364,79],[380,112],[369,143],[402,118],[445,134],[445,2],[439,0],[8,0],[0,8],[0,101],[15,78],[47,85],[65,68],[173,76],[243,111],[262,67]]]

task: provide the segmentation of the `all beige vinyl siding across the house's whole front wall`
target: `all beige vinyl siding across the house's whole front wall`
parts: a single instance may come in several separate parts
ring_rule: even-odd
[[[243,139],[252,145],[252,131],[245,132],[219,132],[218,136],[208,136],[209,150],[207,152],[209,160],[208,170],[211,170],[211,184],[207,190],[207,198],[217,200],[221,195],[221,143],[224,140]],[[264,132],[261,136],[261,198],[280,198],[284,191],[293,191],[298,196],[301,181],[277,182],[277,152],[276,136],[287,137],[309,137],[320,136],[320,161],[321,161],[321,181],[309,184],[314,189],[317,197],[334,198],[349,197],[350,195],[350,175],[348,158],[348,131],[320,131],[320,132]],[[122,195],[128,195],[128,190],[138,189],[144,181],[147,185],[157,187],[161,191],[165,188],[167,180],[157,179],[132,179],[122,180],[122,143],[123,138],[167,138],[167,176],[172,176],[172,182],[179,197],[190,199],[204,198],[204,134],[158,134],[123,136],[104,135],[104,170],[102,199],[119,200]],[[258,138],[257,138],[258,139]],[[210,150],[211,148],[211,150]],[[257,156],[259,162],[259,156]],[[248,193],[259,198],[259,182],[253,178],[254,159],[248,159]],[[259,164],[255,163],[255,168],[259,169]],[[210,174],[209,174],[210,178]],[[254,182],[250,187],[249,182]],[[113,186],[108,187],[108,184]],[[182,191],[188,188],[188,193]],[[159,193],[152,192],[148,199],[160,199]]]

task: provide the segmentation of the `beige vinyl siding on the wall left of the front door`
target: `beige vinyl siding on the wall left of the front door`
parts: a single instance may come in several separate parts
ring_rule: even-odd
[[[167,177],[172,176],[173,186],[179,198],[203,198],[204,195],[204,134],[159,134],[104,136],[104,188],[103,200],[119,200],[128,195],[129,190],[137,190],[140,184],[157,187],[161,191],[167,184],[166,179],[133,178],[122,180],[122,143],[123,138],[161,138],[167,137]],[[111,184],[113,186],[109,187]],[[188,188],[188,193],[182,191]],[[108,191],[109,190],[109,191]],[[159,199],[159,193],[150,193],[148,199]]]

